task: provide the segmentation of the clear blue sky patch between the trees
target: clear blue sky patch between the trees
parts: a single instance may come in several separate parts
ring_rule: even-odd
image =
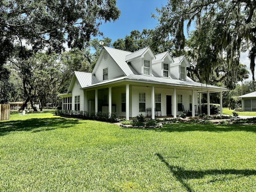
[[[104,33],[104,37],[111,38],[113,43],[118,38],[129,35],[132,30],[154,29],[158,20],[151,18],[151,14],[158,15],[156,7],[161,8],[166,4],[167,0],[117,0],[121,11],[119,19],[102,23],[100,31]]]

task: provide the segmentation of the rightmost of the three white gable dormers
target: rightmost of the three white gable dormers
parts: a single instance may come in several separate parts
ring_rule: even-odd
[[[173,58],[174,63],[170,65],[172,74],[179,80],[186,80],[187,67],[190,66],[186,56]]]

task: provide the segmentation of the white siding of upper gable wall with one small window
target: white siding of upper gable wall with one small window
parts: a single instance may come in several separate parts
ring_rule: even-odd
[[[120,76],[124,76],[124,72],[120,69],[120,67],[116,64],[116,62],[112,59],[112,57],[108,54],[106,60],[102,57],[98,68],[95,72],[96,78],[99,82],[103,81],[103,69],[108,68],[108,80],[114,79]]]

